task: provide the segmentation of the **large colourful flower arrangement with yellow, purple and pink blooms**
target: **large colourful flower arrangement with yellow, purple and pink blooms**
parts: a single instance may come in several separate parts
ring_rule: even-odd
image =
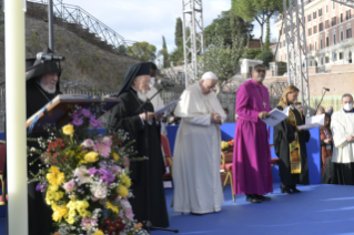
[[[135,235],[144,231],[129,203],[129,156],[135,154],[123,131],[102,135],[102,123],[89,109],[75,108],[61,130],[48,126],[49,140],[38,139],[40,171],[32,174],[37,191],[45,192],[54,235]],[[92,126],[93,130],[90,130]],[[37,164],[37,163],[36,163]]]

